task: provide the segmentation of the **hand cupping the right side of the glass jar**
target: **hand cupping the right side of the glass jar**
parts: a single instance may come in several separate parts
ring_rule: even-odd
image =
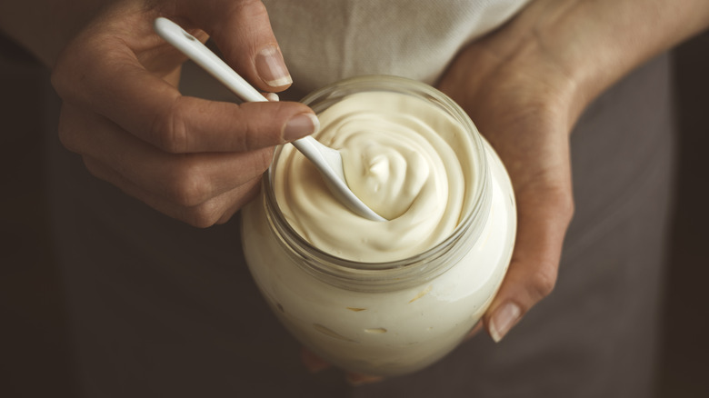
[[[500,155],[517,202],[509,270],[484,323],[495,342],[554,288],[574,213],[568,137],[581,106],[576,85],[545,57],[507,53],[491,35],[458,55],[439,83]]]

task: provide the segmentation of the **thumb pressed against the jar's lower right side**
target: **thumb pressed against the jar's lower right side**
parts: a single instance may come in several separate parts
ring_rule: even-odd
[[[484,315],[495,342],[556,283],[564,234],[574,204],[566,188],[518,194],[518,233],[503,284]]]

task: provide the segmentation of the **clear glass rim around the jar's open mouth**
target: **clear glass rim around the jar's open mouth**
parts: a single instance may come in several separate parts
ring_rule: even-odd
[[[265,192],[263,196],[265,207],[268,209],[266,214],[268,215],[269,224],[279,235],[279,241],[282,241],[283,244],[295,252],[299,260],[296,263],[305,262],[308,265],[306,267],[308,268],[307,271],[315,272],[316,276],[325,276],[328,279],[344,279],[348,286],[351,286],[354,282],[355,284],[364,284],[369,287],[376,284],[388,285],[394,283],[391,280],[386,281],[391,279],[388,278],[388,275],[391,275],[395,281],[402,283],[411,278],[415,278],[420,282],[421,276],[424,274],[430,274],[430,278],[425,279],[433,279],[455,264],[455,261],[436,262],[435,260],[442,257],[447,259],[446,254],[451,252],[450,249],[454,246],[453,243],[461,239],[463,235],[472,238],[473,241],[476,240],[487,221],[487,214],[491,206],[489,187],[492,177],[487,164],[483,138],[468,114],[458,104],[455,104],[450,97],[430,85],[400,76],[364,75],[348,78],[315,90],[313,93],[306,95],[301,100],[301,103],[311,105],[319,101],[313,106],[315,113],[319,113],[329,107],[330,104],[334,104],[338,98],[363,91],[396,92],[423,97],[454,116],[455,120],[462,124],[464,130],[470,134],[474,147],[475,175],[479,180],[478,184],[474,184],[473,192],[466,193],[466,195],[470,195],[469,200],[472,201],[472,205],[455,226],[454,231],[443,241],[424,252],[394,261],[381,263],[360,262],[325,253],[315,247],[315,245],[310,244],[295,231],[285,219],[285,215],[281,212],[276,202],[275,190],[273,189],[274,171],[283,148],[282,145],[276,148],[271,166],[264,176],[262,185],[262,189]]]

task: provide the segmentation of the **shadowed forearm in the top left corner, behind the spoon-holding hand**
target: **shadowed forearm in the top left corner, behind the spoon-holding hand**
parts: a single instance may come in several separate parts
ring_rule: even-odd
[[[110,0],[0,2],[0,31],[51,67],[65,45]]]

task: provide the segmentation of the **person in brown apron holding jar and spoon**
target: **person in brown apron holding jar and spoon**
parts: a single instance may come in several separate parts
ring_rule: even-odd
[[[55,145],[50,161],[87,396],[651,393],[673,142],[662,54],[709,25],[707,2],[67,0],[0,11],[5,33],[52,68],[58,137],[79,154]],[[512,263],[483,322],[500,343],[474,336],[420,373],[356,388],[306,372],[250,280],[235,218],[274,145],[315,132],[312,110],[226,101],[155,35],[159,15],[284,99],[387,73],[461,104],[518,206]]]

